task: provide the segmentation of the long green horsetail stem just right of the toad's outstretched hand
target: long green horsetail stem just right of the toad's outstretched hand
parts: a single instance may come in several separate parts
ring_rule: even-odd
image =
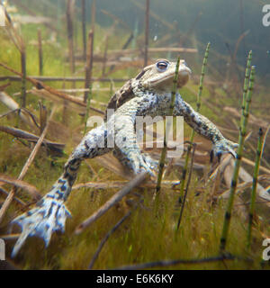
[[[231,211],[233,206],[233,200],[234,200],[234,194],[236,192],[237,184],[238,184],[238,172],[244,147],[244,140],[246,137],[246,128],[247,128],[247,121],[248,121],[248,113],[249,113],[249,104],[251,102],[251,95],[254,85],[254,76],[255,76],[255,67],[251,67],[250,70],[250,77],[249,77],[249,84],[248,84],[248,90],[247,95],[245,97],[245,111],[242,114],[241,121],[240,121],[240,128],[239,128],[239,136],[238,136],[238,151],[237,151],[237,157],[234,165],[234,171],[233,176],[230,184],[230,191],[229,191],[229,200],[227,204],[227,209],[224,216],[223,221],[223,229],[222,234],[220,238],[220,252],[224,252],[226,243],[227,243],[227,237],[228,237],[228,231],[229,231],[229,223],[230,223],[230,217],[231,217]],[[247,89],[247,86],[245,86]],[[245,89],[244,88],[244,94]]]

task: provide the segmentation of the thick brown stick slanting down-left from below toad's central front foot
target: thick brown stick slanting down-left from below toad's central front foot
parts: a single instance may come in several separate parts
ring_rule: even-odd
[[[117,202],[120,202],[121,199],[130,193],[133,188],[138,186],[148,177],[148,172],[144,171],[137,175],[134,179],[132,179],[129,184],[124,186],[118,193],[115,193],[111,199],[103,204],[97,211],[94,212],[92,216],[88,219],[84,220],[80,225],[77,226],[75,233],[80,234],[85,230],[90,224],[92,224],[95,220],[99,219],[106,211],[112,208]]]

